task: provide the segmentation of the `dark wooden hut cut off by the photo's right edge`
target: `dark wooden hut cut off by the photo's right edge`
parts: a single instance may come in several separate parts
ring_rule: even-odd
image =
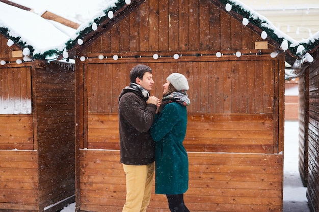
[[[299,172],[312,212],[319,210],[319,39],[310,53],[312,63],[302,66],[299,81]]]

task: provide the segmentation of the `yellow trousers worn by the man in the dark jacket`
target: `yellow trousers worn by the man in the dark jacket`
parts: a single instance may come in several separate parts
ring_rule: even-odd
[[[153,186],[154,163],[149,165],[125,165],[126,202],[122,212],[146,212]]]

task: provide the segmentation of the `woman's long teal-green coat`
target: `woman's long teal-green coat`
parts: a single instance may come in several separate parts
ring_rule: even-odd
[[[155,193],[183,194],[188,190],[189,162],[183,140],[186,106],[173,102],[156,115],[151,127],[155,141]]]

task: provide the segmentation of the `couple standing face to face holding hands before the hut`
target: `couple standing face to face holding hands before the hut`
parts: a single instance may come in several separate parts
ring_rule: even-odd
[[[155,165],[155,193],[166,194],[174,212],[189,212],[183,200],[188,189],[188,156],[182,144],[190,99],[184,75],[173,73],[163,85],[162,101],[150,95],[152,70],[137,65],[119,96],[121,163],[126,175],[123,212],[145,212],[150,202]]]

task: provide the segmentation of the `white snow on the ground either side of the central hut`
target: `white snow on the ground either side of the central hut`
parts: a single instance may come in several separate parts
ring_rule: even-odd
[[[310,212],[306,191],[298,170],[298,122],[285,122],[283,211]],[[61,212],[74,212],[75,203]]]

